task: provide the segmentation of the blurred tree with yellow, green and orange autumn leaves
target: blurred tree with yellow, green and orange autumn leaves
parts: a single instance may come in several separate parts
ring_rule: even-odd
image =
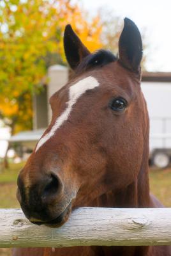
[[[40,90],[48,65],[65,61],[67,23],[90,50],[101,47],[100,19],[87,22],[84,14],[68,0],[0,1],[0,116],[12,134],[31,129],[31,95]]]

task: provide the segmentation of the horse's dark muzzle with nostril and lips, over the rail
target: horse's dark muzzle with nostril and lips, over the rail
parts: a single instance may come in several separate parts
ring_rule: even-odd
[[[29,182],[19,175],[17,198],[26,218],[37,225],[63,225],[70,215],[75,193],[64,189],[56,173]]]

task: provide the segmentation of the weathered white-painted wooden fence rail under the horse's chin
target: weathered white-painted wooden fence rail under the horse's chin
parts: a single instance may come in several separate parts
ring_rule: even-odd
[[[171,244],[171,208],[75,209],[60,228],[31,224],[20,209],[0,209],[0,247]]]

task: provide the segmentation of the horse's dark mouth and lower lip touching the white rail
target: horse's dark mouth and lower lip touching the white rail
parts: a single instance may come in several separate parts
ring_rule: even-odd
[[[57,218],[50,220],[50,221],[31,221],[33,224],[36,225],[45,225],[47,227],[57,228],[61,227],[69,218],[71,213],[71,202],[66,207],[66,209],[59,215]]]

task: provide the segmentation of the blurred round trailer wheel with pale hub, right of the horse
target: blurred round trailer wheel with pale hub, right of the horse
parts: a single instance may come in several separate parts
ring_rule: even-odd
[[[167,168],[170,163],[170,157],[166,152],[155,152],[152,156],[152,163],[158,168]]]

